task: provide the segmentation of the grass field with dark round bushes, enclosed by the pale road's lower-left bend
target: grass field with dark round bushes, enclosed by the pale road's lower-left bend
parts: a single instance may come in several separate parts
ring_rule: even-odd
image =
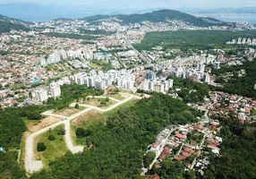
[[[56,158],[61,158],[64,156],[64,154],[67,151],[65,142],[64,142],[64,136],[58,135],[56,132],[57,130],[64,129],[64,124],[57,126],[55,129],[52,129],[51,132],[45,132],[41,135],[39,135],[35,139],[35,153],[36,158],[43,161],[44,165],[48,167],[48,164],[51,161],[54,161]],[[49,135],[54,135],[55,140],[49,141],[47,138]],[[37,143],[38,142],[44,142],[47,146],[47,149],[42,152],[37,151]]]

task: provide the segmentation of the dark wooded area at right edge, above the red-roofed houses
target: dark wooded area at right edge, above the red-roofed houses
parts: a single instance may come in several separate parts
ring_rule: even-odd
[[[238,76],[238,72],[245,70],[246,75]],[[244,62],[243,65],[223,66],[219,70],[213,70],[212,73],[217,75],[217,82],[223,84],[223,88],[212,87],[212,90],[221,90],[227,93],[242,95],[256,99],[256,60]],[[226,79],[226,72],[233,72],[234,76]],[[226,81],[227,80],[227,81]]]

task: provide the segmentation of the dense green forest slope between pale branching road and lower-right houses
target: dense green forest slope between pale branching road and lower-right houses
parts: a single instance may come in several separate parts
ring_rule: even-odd
[[[184,113],[185,112],[185,113]],[[196,122],[201,113],[182,101],[162,94],[142,99],[133,107],[124,107],[107,119],[107,125],[90,126],[81,154],[67,153],[51,163],[50,170],[32,175],[40,178],[136,178],[143,153],[155,141],[158,132],[169,124]]]

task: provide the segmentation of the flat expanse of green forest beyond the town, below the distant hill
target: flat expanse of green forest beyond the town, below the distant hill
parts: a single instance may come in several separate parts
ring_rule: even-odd
[[[139,50],[150,50],[152,47],[163,46],[177,49],[212,49],[226,47],[226,42],[233,38],[255,38],[256,30],[179,30],[164,32],[149,32],[141,44],[136,44]]]

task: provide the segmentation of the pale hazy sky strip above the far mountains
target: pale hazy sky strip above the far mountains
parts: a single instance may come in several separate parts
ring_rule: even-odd
[[[256,7],[256,0],[0,0],[5,3],[37,3],[58,6],[98,6],[111,9],[148,8],[225,8]]]

